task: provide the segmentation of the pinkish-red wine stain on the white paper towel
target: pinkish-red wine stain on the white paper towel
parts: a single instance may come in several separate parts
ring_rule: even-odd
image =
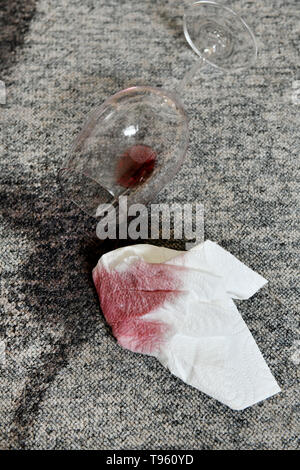
[[[107,270],[98,264],[93,280],[103,314],[119,344],[145,354],[158,350],[169,326],[143,316],[178,295],[178,268],[140,259],[125,265],[122,271]]]

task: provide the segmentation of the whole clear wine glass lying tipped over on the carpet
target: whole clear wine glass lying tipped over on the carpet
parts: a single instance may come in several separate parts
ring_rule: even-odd
[[[173,92],[152,86],[119,91],[96,108],[75,139],[59,180],[66,195],[87,214],[103,204],[146,204],[175,176],[186,155],[188,118],[180,96],[200,67],[223,71],[251,66],[254,35],[231,9],[210,1],[186,8],[184,34],[198,56]]]

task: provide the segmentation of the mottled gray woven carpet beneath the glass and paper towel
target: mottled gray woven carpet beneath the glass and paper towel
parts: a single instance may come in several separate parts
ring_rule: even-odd
[[[183,2],[39,0],[4,22],[15,42],[0,55],[2,449],[299,448],[299,2],[223,3],[253,27],[259,60],[185,91],[188,155],[156,201],[203,202],[206,238],[270,281],[239,309],[282,393],[232,411],[117,346],[91,279],[113,244],[58,190],[96,103],[193,63]]]

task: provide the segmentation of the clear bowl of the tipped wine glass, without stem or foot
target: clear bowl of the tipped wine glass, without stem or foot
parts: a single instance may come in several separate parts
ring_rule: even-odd
[[[122,195],[128,204],[147,204],[178,171],[188,140],[178,98],[161,88],[127,88],[92,112],[59,172],[60,184],[95,217]]]

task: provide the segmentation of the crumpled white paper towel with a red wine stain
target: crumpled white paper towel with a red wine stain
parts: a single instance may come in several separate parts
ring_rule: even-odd
[[[280,391],[232,299],[267,281],[209,240],[187,252],[119,248],[93,270],[118,343],[234,410]],[[262,319],[263,321],[263,319]]]

